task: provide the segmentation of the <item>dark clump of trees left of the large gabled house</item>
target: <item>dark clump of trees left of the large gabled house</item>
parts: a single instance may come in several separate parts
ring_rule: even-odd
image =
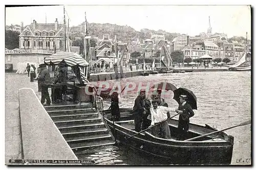
[[[5,47],[9,50],[19,47],[19,32],[7,30],[5,31]]]

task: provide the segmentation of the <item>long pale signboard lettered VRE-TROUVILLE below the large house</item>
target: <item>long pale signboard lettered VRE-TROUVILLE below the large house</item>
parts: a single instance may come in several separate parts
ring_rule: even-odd
[[[37,49],[14,49],[14,50],[5,50],[5,54],[54,54],[54,51],[51,50],[37,50]]]

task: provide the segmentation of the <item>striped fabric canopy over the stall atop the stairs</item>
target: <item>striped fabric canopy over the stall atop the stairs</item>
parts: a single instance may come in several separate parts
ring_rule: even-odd
[[[59,52],[45,58],[47,65],[58,65],[65,62],[71,66],[75,72],[76,78],[80,84],[90,84],[84,74],[84,67],[89,66],[89,63],[76,53]]]

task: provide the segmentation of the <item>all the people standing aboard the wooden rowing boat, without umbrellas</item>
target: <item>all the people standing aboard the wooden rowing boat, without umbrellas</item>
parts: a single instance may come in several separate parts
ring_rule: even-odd
[[[189,118],[195,113],[186,95],[180,95],[180,104],[178,108],[168,107],[168,104],[161,98],[161,90],[158,94],[153,94],[151,100],[146,97],[145,90],[140,90],[139,95],[135,99],[133,107],[135,131],[150,130],[152,135],[160,138],[170,139],[170,129],[168,122],[170,113],[179,114],[178,136],[177,140],[187,139],[189,129]],[[120,93],[113,92],[111,94],[111,112],[112,120],[120,120],[119,103],[121,101]],[[152,107],[153,106],[153,107]]]

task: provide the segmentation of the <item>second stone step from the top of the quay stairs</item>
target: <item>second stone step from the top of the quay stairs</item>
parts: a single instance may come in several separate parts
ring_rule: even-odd
[[[60,116],[60,115],[71,115],[71,114],[86,114],[86,113],[96,113],[96,110],[91,108],[86,109],[66,109],[66,110],[52,110],[48,111],[50,116]]]

